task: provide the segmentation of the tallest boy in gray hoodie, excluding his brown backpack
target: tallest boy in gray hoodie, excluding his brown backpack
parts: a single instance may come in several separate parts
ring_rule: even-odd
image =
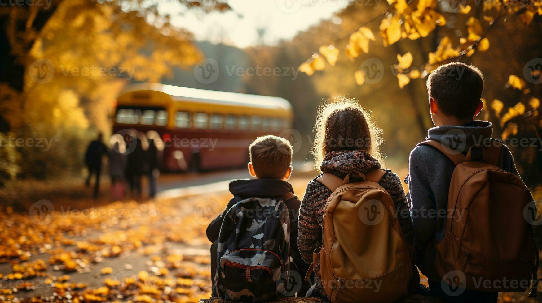
[[[429,75],[427,88],[435,127],[429,129],[426,140],[438,141],[445,149],[463,154],[467,154],[473,144],[483,145],[495,140],[491,138],[491,123],[473,121],[483,106],[480,100],[483,78],[477,68],[460,62],[441,65]],[[519,176],[512,154],[505,145],[502,146],[499,166]],[[448,190],[454,169],[455,164],[434,147],[421,145],[410,153],[409,175],[405,182],[410,190],[416,263],[429,279],[431,295],[447,302],[496,302],[497,292],[447,291],[445,285],[441,285],[442,277],[431,268],[435,258],[431,247],[444,236]]]

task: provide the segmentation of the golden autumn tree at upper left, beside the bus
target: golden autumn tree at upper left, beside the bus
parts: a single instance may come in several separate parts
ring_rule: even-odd
[[[20,5],[18,5],[20,4]],[[228,10],[218,0],[166,5],[202,13]],[[127,80],[159,81],[197,62],[192,35],[170,23],[158,3],[50,0],[0,7],[0,137],[53,138],[53,151],[8,146],[0,179],[45,176],[70,167],[107,128],[107,110]],[[83,75],[82,71],[89,71]],[[101,73],[107,71],[107,73]],[[69,155],[68,157],[66,157]],[[22,161],[24,159],[24,161]],[[70,161],[66,161],[70,160]]]

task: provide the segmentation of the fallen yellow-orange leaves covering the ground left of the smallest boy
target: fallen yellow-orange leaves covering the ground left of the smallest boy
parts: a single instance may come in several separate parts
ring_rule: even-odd
[[[0,275],[0,279],[13,286],[0,287],[0,301],[197,302],[211,297],[209,256],[166,249],[171,243],[188,247],[197,241],[210,245],[205,236],[207,226],[192,215],[201,199],[192,196],[156,203],[115,202],[104,208],[137,209],[139,215],[81,218],[69,212],[58,213],[44,226],[36,225],[27,213],[10,210],[8,214],[0,207],[0,262],[12,263],[12,272]],[[206,195],[205,199],[224,206],[229,194]],[[46,255],[37,259],[38,254]],[[99,265],[106,259],[131,255],[145,258],[147,270],[132,272],[132,265],[127,264],[120,271],[121,266]],[[91,272],[95,273],[90,278],[94,279],[92,286],[78,280],[69,282],[80,273]],[[102,274],[110,276],[99,281]],[[34,289],[48,293],[30,298],[22,294]]]

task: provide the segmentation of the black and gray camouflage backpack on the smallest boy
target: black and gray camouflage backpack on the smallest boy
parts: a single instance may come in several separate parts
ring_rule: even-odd
[[[213,296],[265,301],[285,293],[290,262],[287,201],[251,197],[226,210],[220,234]]]

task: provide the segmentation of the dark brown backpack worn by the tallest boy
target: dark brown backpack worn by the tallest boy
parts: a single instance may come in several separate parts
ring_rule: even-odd
[[[498,167],[502,143],[491,142],[490,147],[475,144],[466,156],[437,141],[420,143],[440,150],[455,164],[444,238],[429,248],[434,248],[435,259],[426,266],[453,287],[524,292],[531,276],[537,280],[538,269],[532,226],[524,217],[532,196],[517,175]],[[536,285],[530,294],[534,297]]]

